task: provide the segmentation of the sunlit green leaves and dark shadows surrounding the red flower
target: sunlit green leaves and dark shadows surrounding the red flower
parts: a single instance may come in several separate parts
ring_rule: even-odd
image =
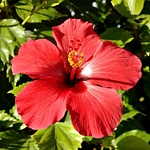
[[[54,42],[52,26],[67,18],[94,24],[111,40],[142,61],[143,76],[122,97],[123,117],[115,132],[102,139],[83,137],[69,114],[45,130],[27,128],[14,99],[30,79],[13,76],[10,60],[28,39]],[[0,150],[149,150],[150,149],[150,1],[149,0],[1,0],[0,1]]]

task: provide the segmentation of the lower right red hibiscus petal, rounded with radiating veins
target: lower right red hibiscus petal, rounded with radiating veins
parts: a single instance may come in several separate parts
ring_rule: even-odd
[[[72,90],[68,109],[75,129],[95,138],[111,134],[122,115],[121,99],[115,90],[82,82]]]

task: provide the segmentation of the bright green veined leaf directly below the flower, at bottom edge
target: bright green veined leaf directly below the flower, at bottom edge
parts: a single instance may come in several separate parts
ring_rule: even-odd
[[[42,150],[77,150],[82,142],[82,136],[73,126],[62,122],[37,131],[33,137]]]

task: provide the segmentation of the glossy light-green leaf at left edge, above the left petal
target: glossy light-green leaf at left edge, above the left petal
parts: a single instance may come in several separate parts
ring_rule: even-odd
[[[15,19],[3,19],[0,21],[0,59],[8,63],[9,56],[14,56],[15,46],[21,46],[26,42],[24,29]]]

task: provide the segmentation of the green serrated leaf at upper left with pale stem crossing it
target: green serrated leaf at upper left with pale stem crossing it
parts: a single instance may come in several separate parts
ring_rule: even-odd
[[[39,3],[34,8],[31,4],[27,5],[23,1],[19,1],[15,7],[18,16],[22,20],[28,18],[27,22],[30,23],[40,23],[42,20],[53,20],[63,16],[55,8],[46,6],[43,8]]]

